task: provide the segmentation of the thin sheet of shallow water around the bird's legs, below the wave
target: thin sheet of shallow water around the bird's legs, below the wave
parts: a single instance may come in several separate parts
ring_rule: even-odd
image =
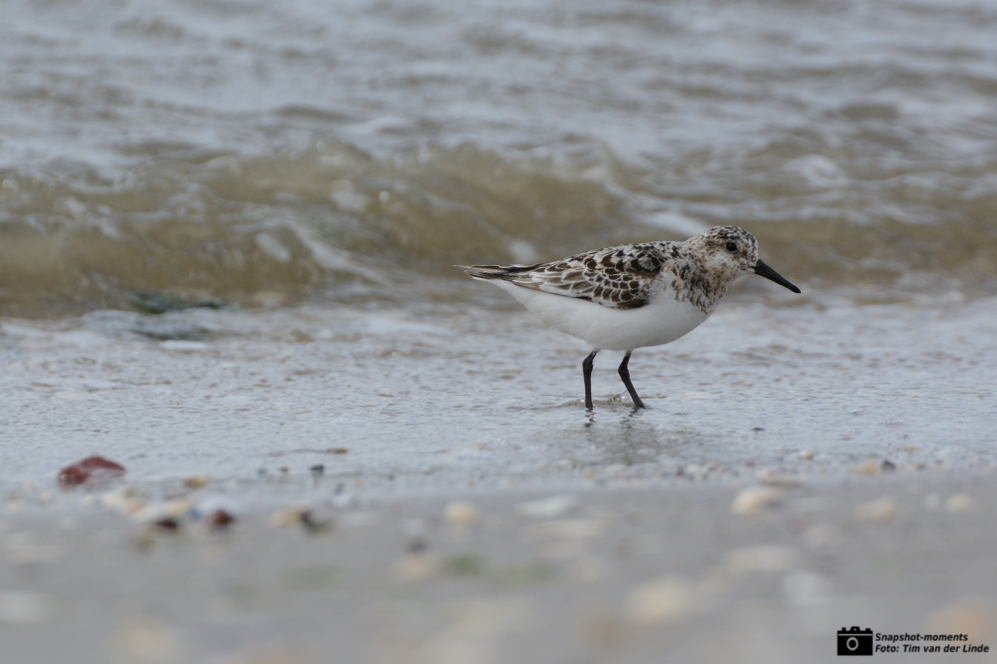
[[[245,484],[249,502],[265,498],[269,484],[258,480],[281,466],[301,476],[317,464],[362,481],[361,493],[388,495],[543,490],[687,467],[737,478],[765,468],[834,475],[884,458],[903,471],[997,464],[992,300],[801,300],[725,302],[692,334],[639,350],[631,375],[645,411],[628,405],[621,354],[600,355],[591,416],[581,399],[587,349],[505,301],[494,311],[8,319],[0,490],[40,490],[95,453],[139,485],[207,473]]]

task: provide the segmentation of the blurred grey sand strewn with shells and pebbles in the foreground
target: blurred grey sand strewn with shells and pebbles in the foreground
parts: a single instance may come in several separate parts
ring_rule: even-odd
[[[997,646],[992,473],[630,484],[337,500],[319,479],[306,523],[285,503],[224,530],[180,502],[225,505],[210,484],[8,506],[4,661],[830,662],[853,625]],[[170,510],[175,531],[140,523]]]

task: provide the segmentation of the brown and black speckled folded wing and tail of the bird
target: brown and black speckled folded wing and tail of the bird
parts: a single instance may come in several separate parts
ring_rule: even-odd
[[[477,279],[502,279],[523,288],[589,300],[611,309],[637,309],[651,297],[651,286],[665,262],[662,245],[607,247],[536,265],[462,266]]]

